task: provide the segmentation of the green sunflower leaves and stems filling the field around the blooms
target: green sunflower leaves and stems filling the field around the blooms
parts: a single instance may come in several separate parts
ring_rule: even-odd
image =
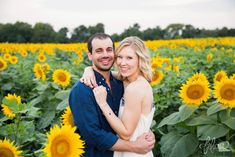
[[[139,27],[135,26],[135,29]],[[212,50],[215,47],[217,50]],[[207,76],[211,89],[217,71],[225,70],[229,76],[235,73],[235,47],[227,46],[225,50],[220,50],[222,47],[213,45],[195,51],[180,45],[174,49],[160,47],[151,51],[152,57],[170,58],[169,64],[180,67],[179,72],[174,72],[166,70],[167,64],[164,63],[156,69],[163,71],[164,78],[153,86],[156,108],[152,124],[152,131],[156,135],[155,156],[198,157],[234,153],[235,109],[224,107],[215,100],[213,92],[208,101],[198,107],[183,104],[179,97],[182,84],[196,72],[203,72]],[[227,52],[228,49],[232,49],[232,52]],[[210,53],[213,53],[212,60],[206,60]],[[79,80],[84,67],[90,65],[85,55],[84,61],[75,65],[75,53],[56,49],[54,56],[47,56],[46,62],[51,69],[46,80],[42,81],[36,79],[33,72],[37,54],[38,51],[29,53],[27,58],[16,54],[19,62],[16,65],[9,64],[7,71],[0,72],[0,102],[16,114],[15,118],[8,118],[0,112],[0,139],[6,137],[15,141],[24,150],[23,155],[30,157],[43,156],[46,132],[54,124],[60,124],[61,114],[68,106],[72,85]],[[182,57],[182,60],[174,63],[174,57]],[[53,71],[58,68],[71,73],[68,87],[62,88],[53,82]],[[21,96],[22,103],[5,99],[8,93]]]

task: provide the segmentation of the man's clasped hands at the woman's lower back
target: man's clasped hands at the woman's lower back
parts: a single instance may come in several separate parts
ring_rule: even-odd
[[[152,132],[144,133],[133,144],[135,153],[146,154],[154,148],[155,136]]]

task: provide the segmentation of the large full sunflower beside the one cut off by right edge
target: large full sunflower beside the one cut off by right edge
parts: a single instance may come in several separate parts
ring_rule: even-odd
[[[181,86],[179,96],[185,104],[199,106],[209,98],[210,89],[207,82],[202,80],[187,82]]]

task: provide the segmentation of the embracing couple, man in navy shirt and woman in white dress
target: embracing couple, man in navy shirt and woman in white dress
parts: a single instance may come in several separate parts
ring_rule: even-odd
[[[85,141],[84,157],[153,157],[150,131],[154,99],[150,56],[138,37],[116,48],[104,33],[87,42],[87,67],[72,88],[69,105],[77,133]],[[115,62],[118,71],[111,72]]]

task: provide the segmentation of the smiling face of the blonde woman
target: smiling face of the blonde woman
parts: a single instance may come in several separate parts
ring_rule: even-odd
[[[132,77],[139,74],[138,56],[130,46],[124,47],[117,54],[117,67],[122,77]]]

